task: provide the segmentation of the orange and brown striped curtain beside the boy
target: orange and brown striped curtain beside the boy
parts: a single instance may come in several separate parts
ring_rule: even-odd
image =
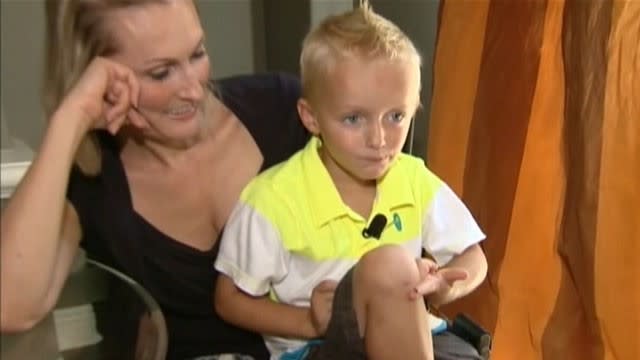
[[[429,166],[487,234],[492,359],[640,359],[640,1],[445,0]]]

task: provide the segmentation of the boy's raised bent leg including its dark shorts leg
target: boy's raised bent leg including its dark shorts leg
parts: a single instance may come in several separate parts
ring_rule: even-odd
[[[402,247],[369,252],[340,281],[325,342],[309,359],[433,359],[424,302],[409,299],[418,280]]]

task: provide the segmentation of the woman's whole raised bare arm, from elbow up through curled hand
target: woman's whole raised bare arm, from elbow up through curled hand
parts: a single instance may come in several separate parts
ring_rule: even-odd
[[[0,219],[0,330],[28,329],[55,305],[82,236],[66,200],[75,153],[90,129],[115,133],[136,119],[138,92],[130,69],[96,58],[49,119]]]

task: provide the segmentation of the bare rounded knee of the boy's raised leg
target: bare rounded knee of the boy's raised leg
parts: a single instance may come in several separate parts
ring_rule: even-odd
[[[382,294],[415,285],[420,273],[416,259],[405,248],[384,245],[360,259],[354,279],[359,286]]]

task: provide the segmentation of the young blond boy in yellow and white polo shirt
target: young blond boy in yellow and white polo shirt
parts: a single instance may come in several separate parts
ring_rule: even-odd
[[[367,5],[305,39],[298,111],[315,136],[246,187],[215,264],[216,309],[271,359],[479,358],[424,302],[469,293],[486,261],[467,208],[401,153],[420,61]]]

